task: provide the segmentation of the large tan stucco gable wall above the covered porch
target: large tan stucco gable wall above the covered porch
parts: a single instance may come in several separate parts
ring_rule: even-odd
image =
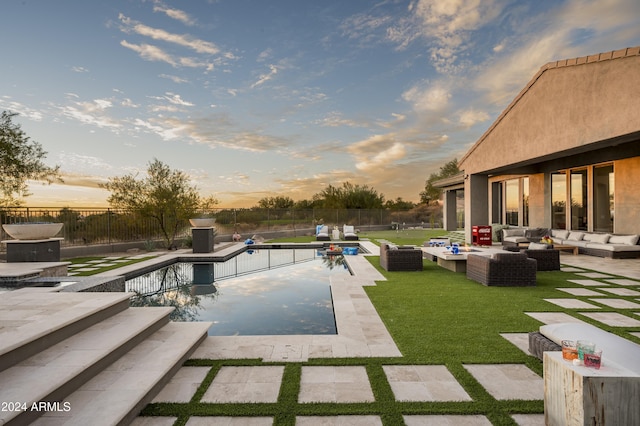
[[[638,111],[640,56],[549,68],[461,159],[460,168],[482,173],[637,132]]]

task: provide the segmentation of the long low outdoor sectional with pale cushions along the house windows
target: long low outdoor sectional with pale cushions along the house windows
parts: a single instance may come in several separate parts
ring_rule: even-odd
[[[631,259],[640,257],[638,235],[614,235],[599,232],[568,231],[546,228],[508,228],[502,230],[502,243],[505,247],[518,243],[538,242],[549,235],[555,244],[578,247],[578,253],[613,259]]]

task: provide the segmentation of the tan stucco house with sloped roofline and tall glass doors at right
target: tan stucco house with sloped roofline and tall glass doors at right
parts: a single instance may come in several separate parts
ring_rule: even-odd
[[[438,186],[448,230],[464,191],[468,242],[490,224],[640,234],[640,46],[542,66],[459,168]]]

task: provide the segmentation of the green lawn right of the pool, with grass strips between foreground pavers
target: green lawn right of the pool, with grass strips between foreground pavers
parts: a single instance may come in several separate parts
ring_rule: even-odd
[[[386,239],[397,244],[422,245],[443,231],[382,231],[361,233],[372,241]],[[305,239],[306,238],[306,239]],[[280,241],[312,241],[309,237]],[[482,414],[495,425],[515,424],[514,413],[543,413],[542,401],[499,401],[467,372],[464,364],[519,363],[542,376],[542,363],[528,356],[500,333],[529,332],[541,324],[525,314],[528,311],[567,312],[583,321],[594,323],[574,310],[563,309],[544,301],[545,298],[569,297],[556,287],[580,287],[568,279],[581,278],[568,272],[539,272],[536,287],[485,287],[425,260],[422,272],[386,272],[378,257],[368,257],[374,267],[387,278],[376,286],[366,287],[366,293],[402,352],[401,358],[312,359],[306,363],[283,363],[285,373],[276,404],[206,404],[198,400],[204,394],[222,366],[263,365],[260,360],[190,360],[186,365],[210,366],[211,371],[192,402],[186,404],[150,404],[144,415],[177,416],[183,425],[190,416],[271,416],[275,425],[294,425],[299,415],[379,415],[385,425],[403,424],[403,414]],[[617,297],[617,296],[616,296]],[[621,297],[624,298],[624,297]],[[580,298],[586,301],[586,298]],[[633,301],[632,297],[626,298]],[[602,307],[601,311],[628,311]],[[597,324],[632,341],[628,329],[619,331]],[[382,367],[388,364],[445,365],[472,402],[396,402]],[[376,398],[372,403],[358,404],[298,404],[297,395],[301,368],[305,365],[365,366]]]

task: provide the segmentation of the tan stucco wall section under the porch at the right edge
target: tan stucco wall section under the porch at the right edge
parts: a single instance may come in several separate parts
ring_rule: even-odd
[[[640,234],[640,157],[613,163],[614,232]]]

